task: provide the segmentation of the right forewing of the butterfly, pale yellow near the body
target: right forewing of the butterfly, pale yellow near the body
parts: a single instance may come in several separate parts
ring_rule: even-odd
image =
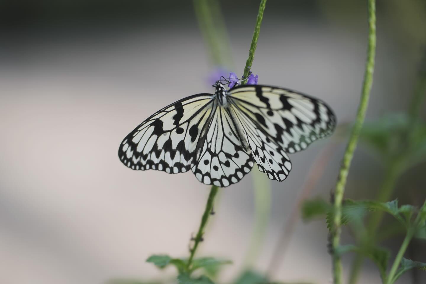
[[[237,86],[228,95],[241,113],[288,153],[331,135],[336,116],[321,100],[272,86]]]

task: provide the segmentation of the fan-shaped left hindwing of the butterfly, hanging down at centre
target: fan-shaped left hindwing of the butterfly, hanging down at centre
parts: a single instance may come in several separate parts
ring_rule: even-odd
[[[226,187],[239,182],[254,163],[235,118],[228,109],[214,104],[201,156],[192,171],[204,184]]]

